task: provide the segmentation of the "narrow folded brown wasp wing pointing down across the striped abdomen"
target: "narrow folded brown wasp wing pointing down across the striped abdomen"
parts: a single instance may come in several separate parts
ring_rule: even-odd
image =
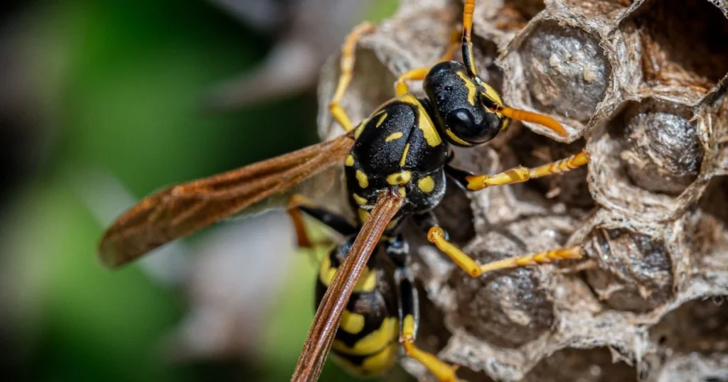
[[[333,282],[326,290],[323,299],[316,310],[313,325],[306,337],[304,349],[298,357],[298,365],[293,372],[291,382],[317,381],[323,364],[331,349],[336,329],[341,322],[341,313],[347,306],[354,286],[361,276],[381,234],[387,228],[389,220],[395,216],[404,200],[397,192],[384,192],[377,199],[376,205],[359,231],[357,238],[339,266]]]

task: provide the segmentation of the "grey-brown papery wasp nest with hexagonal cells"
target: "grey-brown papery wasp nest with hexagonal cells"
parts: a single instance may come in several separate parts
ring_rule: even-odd
[[[402,1],[363,38],[352,119],[391,98],[395,76],[434,63],[461,10]],[[726,0],[478,0],[480,76],[569,138],[515,124],[457,150],[456,164],[494,173],[583,147],[591,162],[475,194],[451,187],[436,212],[481,262],[579,243],[587,256],[472,279],[410,229],[422,347],[471,382],[728,381],[727,15]],[[337,59],[320,84],[323,136],[339,133],[326,110]]]

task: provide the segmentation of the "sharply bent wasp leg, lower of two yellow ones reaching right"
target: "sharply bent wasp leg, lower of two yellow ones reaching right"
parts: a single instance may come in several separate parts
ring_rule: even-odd
[[[558,248],[546,252],[532,253],[525,256],[515,256],[513,258],[505,258],[502,260],[491,261],[483,265],[478,264],[465,252],[462,252],[455,244],[448,241],[448,234],[438,226],[435,216],[431,212],[426,212],[416,216],[416,222],[421,228],[427,230],[427,240],[438,250],[448,255],[454,263],[470,274],[472,277],[478,277],[481,274],[498,269],[518,268],[521,266],[532,266],[541,263],[550,263],[553,260],[575,260],[582,258],[584,250],[580,246]]]

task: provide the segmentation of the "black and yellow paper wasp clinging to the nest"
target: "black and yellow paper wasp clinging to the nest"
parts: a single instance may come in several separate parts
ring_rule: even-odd
[[[507,107],[478,76],[472,49],[475,0],[464,3],[460,41],[451,42],[440,62],[414,68],[395,81],[395,98],[364,121],[352,124],[340,101],[352,80],[357,40],[373,30],[358,25],[344,41],[341,73],[329,109],[347,132],[339,138],[289,154],[166,188],[143,199],[103,235],[98,255],[121,266],[159,245],[266,203],[288,209],[298,244],[311,246],[304,215],[344,236],[323,258],[317,276],[317,311],[291,381],[316,381],[329,352],[357,375],[379,375],[396,362],[400,347],[439,381],[457,381],[456,367],[419,349],[417,290],[408,272],[408,242],[400,226],[414,220],[427,239],[470,276],[560,259],[582,258],[579,246],[479,264],[448,241],[432,209],[443,199],[446,178],[467,191],[519,183],[587,164],[585,151],[540,167],[515,167],[495,175],[475,175],[452,166],[452,147],[474,147],[504,131],[510,120],[540,124],[566,135],[555,119]],[[458,46],[462,63],[452,60]],[[407,81],[423,81],[425,97],[413,95]],[[349,221],[304,196],[293,194],[304,180],[344,167]],[[291,196],[293,194],[293,196]],[[383,276],[372,253],[395,264],[393,282]]]

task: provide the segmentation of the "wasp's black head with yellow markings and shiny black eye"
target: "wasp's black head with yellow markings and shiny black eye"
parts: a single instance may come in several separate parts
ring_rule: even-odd
[[[494,91],[468,76],[462,63],[448,61],[430,69],[423,84],[443,137],[456,146],[473,146],[493,139],[503,118],[481,102],[493,100]],[[495,102],[500,99],[495,95]]]

